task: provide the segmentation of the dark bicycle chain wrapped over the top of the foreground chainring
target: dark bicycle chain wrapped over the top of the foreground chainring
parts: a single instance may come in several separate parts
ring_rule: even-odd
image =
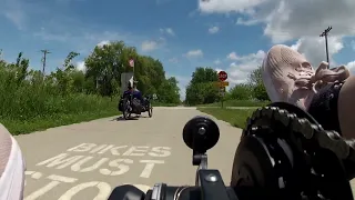
[[[336,157],[344,163],[347,160],[351,163],[355,163],[355,140],[343,139],[336,131],[324,130],[323,127],[315,120],[310,121],[306,118],[298,118],[295,113],[288,112],[285,109],[280,109],[278,107],[264,107],[260,108],[253,112],[252,117],[247,119],[246,128],[243,131],[243,136],[256,132],[255,130],[260,128],[257,122],[261,120],[268,120],[270,127],[282,126],[281,129],[288,130],[287,132],[274,131],[277,138],[287,138],[290,133],[293,134],[297,140],[295,147],[300,152],[306,152],[307,149],[303,146],[306,141],[310,142],[311,148],[316,150],[316,148],[328,149],[336,154]],[[265,126],[265,124],[264,124]],[[267,132],[270,133],[270,131]],[[296,133],[296,134],[295,134]],[[300,141],[300,139],[302,141]],[[310,152],[308,151],[308,152]],[[314,152],[314,151],[313,151]],[[351,180],[348,171],[346,170],[346,164],[344,164],[345,171],[347,172],[347,180]],[[352,169],[351,169],[352,168]],[[354,166],[348,168],[349,171],[354,171]]]

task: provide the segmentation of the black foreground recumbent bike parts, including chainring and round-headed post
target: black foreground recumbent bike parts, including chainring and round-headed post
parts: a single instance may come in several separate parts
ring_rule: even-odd
[[[158,183],[146,194],[121,186],[109,200],[353,200],[349,179],[354,170],[348,167],[355,162],[348,158],[355,153],[354,142],[324,130],[295,106],[272,103],[248,118],[229,187],[219,170],[207,169],[206,151],[219,138],[213,120],[191,119],[183,140],[193,150],[193,166],[199,166],[195,186]]]

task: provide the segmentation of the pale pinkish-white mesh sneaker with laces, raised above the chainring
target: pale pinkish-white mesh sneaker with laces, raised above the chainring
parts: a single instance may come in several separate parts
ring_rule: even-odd
[[[288,102],[307,110],[312,98],[327,83],[343,81],[348,70],[342,66],[327,69],[322,62],[315,71],[306,58],[294,49],[276,44],[267,52],[262,64],[262,77],[268,98]]]

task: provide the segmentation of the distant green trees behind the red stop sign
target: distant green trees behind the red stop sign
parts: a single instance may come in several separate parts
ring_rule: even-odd
[[[221,101],[222,98],[223,100],[270,101],[263,84],[261,67],[248,74],[247,82],[235,84],[226,91],[224,97],[220,94],[217,81],[217,71],[214,69],[196,68],[186,87],[185,103],[190,106],[206,104]]]

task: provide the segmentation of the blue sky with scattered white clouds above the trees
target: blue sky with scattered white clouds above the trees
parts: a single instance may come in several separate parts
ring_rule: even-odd
[[[47,71],[77,51],[83,69],[95,46],[123,40],[161,60],[183,99],[196,67],[225,70],[231,86],[243,83],[277,43],[316,68],[326,60],[320,34],[327,27],[331,66],[355,71],[354,10],[354,0],[0,0],[0,49],[13,62],[22,51],[33,69],[48,49]]]

